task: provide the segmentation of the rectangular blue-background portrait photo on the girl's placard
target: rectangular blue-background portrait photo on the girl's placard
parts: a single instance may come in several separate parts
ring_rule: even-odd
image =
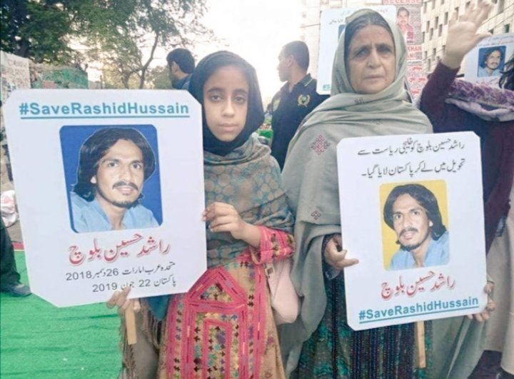
[[[119,227],[125,229],[161,225],[155,126],[63,126],[59,136],[71,228],[76,233],[116,228],[116,223],[90,211],[91,204],[107,216],[121,209],[124,216],[119,218]]]

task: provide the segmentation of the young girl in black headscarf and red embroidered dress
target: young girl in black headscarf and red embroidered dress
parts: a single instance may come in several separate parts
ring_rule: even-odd
[[[283,378],[263,263],[291,256],[293,218],[278,164],[251,136],[263,122],[256,73],[220,51],[198,63],[189,90],[203,109],[208,270],[188,293],[143,300],[124,375],[146,378],[141,346],[160,337],[159,378]],[[123,310],[126,293],[109,304]]]

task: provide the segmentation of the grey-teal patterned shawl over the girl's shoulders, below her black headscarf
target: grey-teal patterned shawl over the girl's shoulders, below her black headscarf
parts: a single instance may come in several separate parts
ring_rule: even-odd
[[[226,156],[204,152],[206,205],[231,204],[247,223],[291,233],[293,216],[286,203],[278,163],[256,138]],[[207,229],[207,265],[219,266],[238,256],[248,244],[231,233]]]

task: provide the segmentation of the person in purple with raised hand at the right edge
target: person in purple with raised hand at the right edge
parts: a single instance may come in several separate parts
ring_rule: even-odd
[[[468,330],[465,340],[459,342],[467,363],[450,367],[449,378],[456,378],[459,369],[465,369],[461,372],[467,378],[483,350],[472,378],[514,375],[514,92],[508,90],[514,88],[512,60],[500,80],[504,89],[455,79],[464,56],[490,36],[478,33],[489,11],[490,4],[479,1],[478,7],[469,6],[458,21],[453,15],[445,54],[420,98],[420,110],[430,118],[436,133],[474,131],[480,136],[482,155],[485,251],[497,305],[485,326],[458,318],[440,322],[446,323],[438,335],[448,344],[455,341],[459,330]],[[498,353],[502,350],[503,358]],[[503,373],[498,373],[500,359]]]

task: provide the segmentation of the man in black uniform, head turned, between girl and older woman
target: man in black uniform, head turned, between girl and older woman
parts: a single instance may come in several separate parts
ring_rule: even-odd
[[[307,74],[308,64],[308,48],[303,41],[289,42],[278,55],[278,77],[287,83],[271,100],[271,155],[281,168],[298,125],[328,97],[316,92],[316,79]]]

